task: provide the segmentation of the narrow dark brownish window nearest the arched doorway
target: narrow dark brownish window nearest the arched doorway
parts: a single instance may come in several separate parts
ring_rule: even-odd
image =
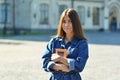
[[[100,8],[94,7],[93,8],[93,25],[100,24]]]

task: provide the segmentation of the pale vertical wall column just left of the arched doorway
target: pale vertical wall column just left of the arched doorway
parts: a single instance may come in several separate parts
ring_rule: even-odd
[[[108,9],[108,0],[104,0],[104,29],[109,30],[109,9]]]

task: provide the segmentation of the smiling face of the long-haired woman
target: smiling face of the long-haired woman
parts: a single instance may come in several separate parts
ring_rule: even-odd
[[[67,15],[63,19],[62,28],[66,34],[73,34],[72,22],[71,22],[71,19]]]

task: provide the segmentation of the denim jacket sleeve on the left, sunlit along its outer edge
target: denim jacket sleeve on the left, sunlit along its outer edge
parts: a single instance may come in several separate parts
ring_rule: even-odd
[[[51,68],[55,65],[53,61],[51,61],[51,54],[53,53],[54,39],[52,38],[48,44],[46,45],[45,51],[42,56],[42,64],[43,68],[47,72],[51,72]]]

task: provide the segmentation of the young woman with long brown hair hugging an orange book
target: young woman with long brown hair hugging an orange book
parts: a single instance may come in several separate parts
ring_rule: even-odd
[[[66,49],[66,58],[56,54],[56,49]],[[56,37],[52,38],[42,56],[43,68],[51,72],[50,80],[81,80],[88,59],[88,43],[77,12],[63,11]]]

